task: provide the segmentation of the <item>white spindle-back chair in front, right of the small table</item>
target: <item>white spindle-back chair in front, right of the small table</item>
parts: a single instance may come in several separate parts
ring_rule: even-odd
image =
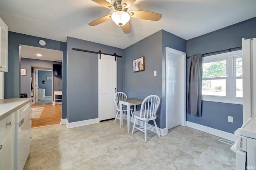
[[[140,107],[140,111],[134,111],[133,115],[134,115],[134,124],[133,124],[133,128],[132,128],[132,134],[134,133],[134,128],[144,132],[145,135],[145,142],[147,142],[147,129],[154,127],[158,133],[158,137],[160,137],[160,133],[158,131],[158,127],[156,125],[156,111],[159,107],[160,104],[160,98],[156,95],[150,95],[148,97],[146,97]],[[144,124],[144,126],[142,127],[136,127],[136,121],[141,120]],[[154,125],[155,126],[149,126],[148,125],[148,121],[153,120],[154,121]]]

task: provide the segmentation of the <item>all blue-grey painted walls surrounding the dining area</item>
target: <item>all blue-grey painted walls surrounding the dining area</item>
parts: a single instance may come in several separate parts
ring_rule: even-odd
[[[252,18],[187,41],[160,30],[125,50],[71,37],[68,37],[67,43],[64,43],[9,32],[9,69],[5,73],[5,98],[18,98],[20,94],[20,87],[15,83],[20,81],[19,44],[42,47],[38,41],[44,39],[46,41],[44,48],[63,51],[63,119],[68,118],[69,122],[75,122],[98,117],[98,57],[97,54],[72,50],[79,48],[90,51],[101,50],[103,53],[117,53],[123,56],[117,58],[118,91],[124,91],[128,97],[134,98],[145,98],[150,94],[158,95],[161,98],[161,106],[157,123],[160,128],[165,128],[164,48],[167,46],[191,56],[238,47],[242,45],[243,37],[246,39],[256,37],[255,27],[256,18]],[[132,60],[142,56],[145,56],[145,70],[132,72]],[[157,70],[157,76],[153,76],[154,70]],[[188,72],[188,69],[186,71]],[[233,116],[234,123],[227,121],[227,115]],[[233,133],[242,125],[242,105],[203,101],[202,117],[187,114],[187,120]]]

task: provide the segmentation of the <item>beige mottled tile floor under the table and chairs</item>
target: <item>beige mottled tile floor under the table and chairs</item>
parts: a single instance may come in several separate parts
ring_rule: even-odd
[[[66,129],[66,125],[32,128],[24,170],[232,170],[236,154],[219,137],[178,126],[158,138],[148,131],[127,133],[127,126],[104,121]],[[130,125],[132,127],[132,123]]]

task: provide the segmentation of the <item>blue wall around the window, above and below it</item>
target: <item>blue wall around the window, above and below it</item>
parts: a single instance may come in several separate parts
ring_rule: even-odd
[[[187,56],[242,46],[242,38],[256,37],[256,18],[246,20],[187,41]],[[188,60],[187,59],[187,63]],[[187,65],[187,73],[189,66]],[[188,84],[188,74],[187,74]],[[233,123],[228,122],[233,116]],[[242,126],[242,105],[202,102],[202,117],[187,114],[187,121],[234,133]]]

